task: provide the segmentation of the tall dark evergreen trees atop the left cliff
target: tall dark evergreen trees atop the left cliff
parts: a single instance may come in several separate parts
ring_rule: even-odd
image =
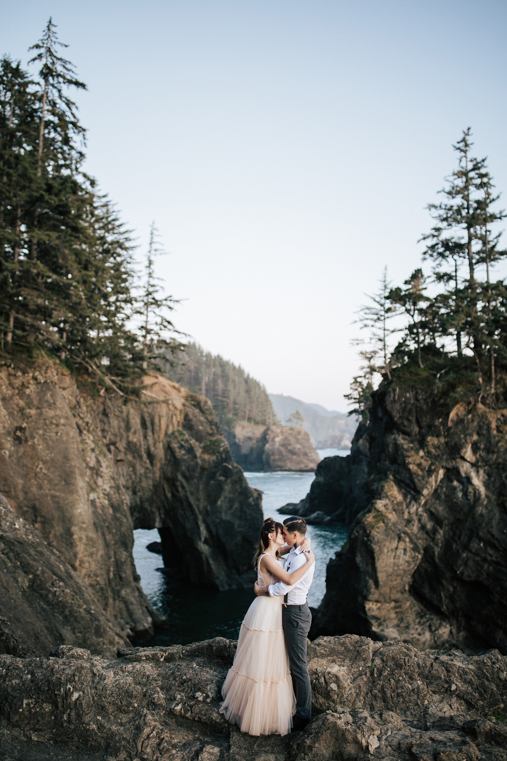
[[[82,169],[86,131],[68,92],[86,86],[62,47],[49,19],[30,49],[36,77],[0,60],[0,345],[42,347],[113,386],[180,344],[153,231],[143,284],[129,232]]]

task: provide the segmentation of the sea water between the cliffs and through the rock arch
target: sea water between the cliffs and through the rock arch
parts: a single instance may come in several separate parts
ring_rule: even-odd
[[[320,449],[320,457],[331,457],[348,451]],[[315,478],[313,473],[245,473],[250,486],[261,489],[262,508],[265,517],[284,520],[277,513],[287,502],[299,502],[309,492]],[[325,594],[325,570],[328,560],[334,557],[347,540],[347,528],[341,524],[334,526],[309,526],[308,536],[312,539],[315,552],[315,575],[308,596],[308,604],[318,607]],[[145,644],[185,645],[212,637],[236,639],[243,616],[254,598],[253,589],[217,592],[206,588],[180,584],[160,573],[162,557],[148,552],[147,544],[160,541],[157,529],[138,529],[134,532],[134,561],[141,586],[151,604],[167,616],[170,629],[164,631]]]

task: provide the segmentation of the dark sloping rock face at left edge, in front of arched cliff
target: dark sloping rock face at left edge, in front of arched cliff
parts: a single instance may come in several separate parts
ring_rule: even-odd
[[[128,638],[59,552],[0,495],[0,652],[19,658],[59,645],[114,656]]]

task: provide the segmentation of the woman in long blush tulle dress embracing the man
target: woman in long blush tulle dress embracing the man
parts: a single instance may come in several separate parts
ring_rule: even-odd
[[[315,560],[309,552],[301,568],[292,574],[284,571],[284,561],[279,558],[285,544],[282,532],[282,524],[266,518],[255,554],[260,587],[277,581],[292,586]],[[285,552],[289,549],[284,547]],[[292,727],[296,699],[282,630],[283,599],[255,597],[243,619],[233,665],[223,683],[220,713],[249,734],[287,734]]]

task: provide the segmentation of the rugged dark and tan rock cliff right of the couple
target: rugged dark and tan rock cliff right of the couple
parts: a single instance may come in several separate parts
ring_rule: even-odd
[[[350,540],[328,564],[312,634],[507,653],[507,409],[395,382],[356,432]],[[367,456],[367,460],[366,460]]]

